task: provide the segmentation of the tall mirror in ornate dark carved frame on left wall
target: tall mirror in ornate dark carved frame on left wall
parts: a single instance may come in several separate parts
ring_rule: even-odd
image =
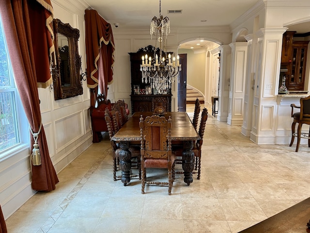
[[[79,30],[68,23],[53,19],[55,57],[52,58],[52,76],[55,100],[83,94],[80,74],[81,57],[78,54]]]

